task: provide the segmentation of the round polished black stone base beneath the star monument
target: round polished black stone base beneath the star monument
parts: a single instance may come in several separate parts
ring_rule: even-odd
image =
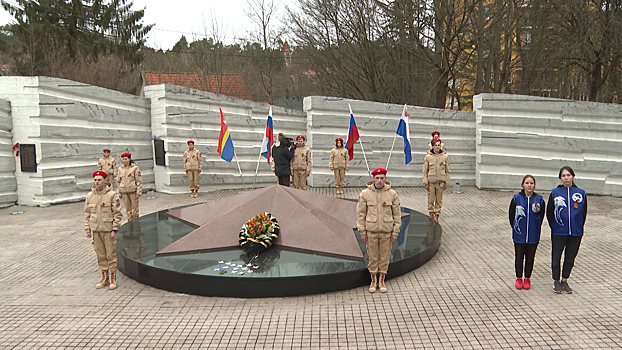
[[[441,226],[428,215],[408,208],[402,212],[402,228],[392,246],[387,279],[423,265],[436,254],[441,242]],[[239,298],[319,294],[369,284],[367,251],[358,233],[365,260],[280,246],[255,258],[239,247],[156,255],[196,229],[166,213],[148,214],[121,227],[117,258],[124,275],[171,292]]]

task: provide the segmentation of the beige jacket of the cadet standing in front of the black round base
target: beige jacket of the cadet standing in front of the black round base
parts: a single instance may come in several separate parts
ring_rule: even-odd
[[[359,196],[356,216],[356,228],[361,235],[367,232],[391,232],[391,235],[397,236],[402,216],[400,199],[397,192],[391,189],[391,183],[387,181],[383,188],[376,189],[374,182],[369,181]]]

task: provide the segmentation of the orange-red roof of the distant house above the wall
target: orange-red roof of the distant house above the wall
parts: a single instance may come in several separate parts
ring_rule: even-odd
[[[183,73],[143,73],[144,95],[145,86],[169,84],[183,86],[195,90],[209,91],[221,95],[243,98],[253,101],[248,83],[243,75],[234,74],[183,74]]]

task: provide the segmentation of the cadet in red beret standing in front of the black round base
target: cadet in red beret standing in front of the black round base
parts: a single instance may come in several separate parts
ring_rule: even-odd
[[[371,274],[369,292],[374,293],[379,287],[380,292],[386,293],[384,278],[389,269],[391,244],[397,241],[402,224],[400,199],[387,181],[386,169],[378,168],[371,174],[374,180],[367,182],[356,206],[356,227],[361,240],[367,244],[367,269]],[[378,273],[380,279],[376,277]]]

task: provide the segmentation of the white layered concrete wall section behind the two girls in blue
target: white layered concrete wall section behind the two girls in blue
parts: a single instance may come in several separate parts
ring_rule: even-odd
[[[622,105],[482,94],[474,109],[479,188],[520,190],[532,174],[548,192],[569,165],[587,192],[622,196]]]

